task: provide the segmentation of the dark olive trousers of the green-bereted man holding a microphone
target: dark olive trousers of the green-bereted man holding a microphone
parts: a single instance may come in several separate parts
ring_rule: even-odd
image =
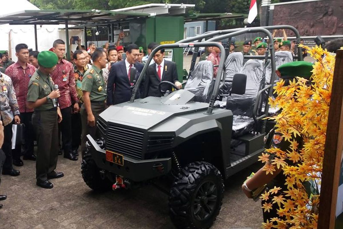
[[[35,111],[32,115],[32,123],[37,136],[36,179],[45,181],[47,175],[54,172],[57,165],[57,111]]]

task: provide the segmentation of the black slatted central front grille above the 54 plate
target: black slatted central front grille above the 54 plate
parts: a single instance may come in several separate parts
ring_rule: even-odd
[[[142,159],[144,133],[108,125],[106,149],[137,160]]]

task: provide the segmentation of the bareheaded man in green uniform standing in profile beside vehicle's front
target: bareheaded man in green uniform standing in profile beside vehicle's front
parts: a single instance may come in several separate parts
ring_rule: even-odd
[[[93,138],[98,138],[96,121],[98,115],[105,110],[106,90],[105,81],[102,74],[106,67],[106,53],[103,49],[96,49],[92,54],[93,65],[84,73],[82,79],[83,104],[81,106],[81,154],[86,151],[86,136],[90,134]]]

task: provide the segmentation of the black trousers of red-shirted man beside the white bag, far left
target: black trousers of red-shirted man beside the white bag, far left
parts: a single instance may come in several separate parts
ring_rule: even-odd
[[[32,125],[32,114],[33,112],[23,112],[20,113],[20,122],[25,125],[24,127],[24,155],[30,156],[34,154],[34,145],[33,141],[35,139],[34,129]],[[20,159],[21,156],[21,144],[17,144],[15,149],[12,150],[12,156],[14,160]]]

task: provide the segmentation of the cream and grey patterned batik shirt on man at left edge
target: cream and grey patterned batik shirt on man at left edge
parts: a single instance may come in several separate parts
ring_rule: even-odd
[[[12,80],[9,76],[0,73],[0,115],[3,125],[10,124],[14,115],[19,114],[19,106]]]

